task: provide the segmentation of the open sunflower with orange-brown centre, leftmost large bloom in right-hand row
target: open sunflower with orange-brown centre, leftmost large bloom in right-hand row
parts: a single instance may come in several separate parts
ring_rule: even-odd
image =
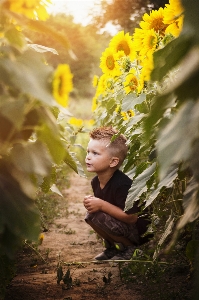
[[[104,74],[115,77],[121,74],[113,49],[106,48],[100,58],[100,68]]]

